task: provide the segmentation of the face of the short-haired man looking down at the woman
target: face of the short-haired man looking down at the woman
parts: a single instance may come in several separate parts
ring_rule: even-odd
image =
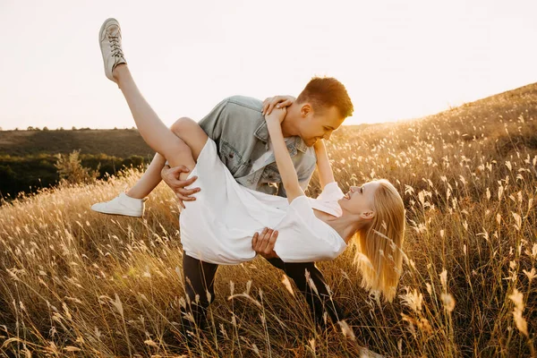
[[[304,143],[311,147],[320,139],[329,140],[332,132],[345,121],[339,115],[337,107],[320,108],[314,111],[310,105],[304,105],[301,109],[302,122],[300,137]]]

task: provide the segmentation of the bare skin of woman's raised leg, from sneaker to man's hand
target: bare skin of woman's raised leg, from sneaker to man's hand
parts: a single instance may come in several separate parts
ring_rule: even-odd
[[[192,158],[191,149],[158,118],[138,90],[126,64],[118,64],[115,67],[114,78],[127,100],[141,137],[149,147],[163,155],[170,165],[183,165],[192,170],[196,163]],[[180,178],[183,180],[187,176],[187,173],[182,173]]]

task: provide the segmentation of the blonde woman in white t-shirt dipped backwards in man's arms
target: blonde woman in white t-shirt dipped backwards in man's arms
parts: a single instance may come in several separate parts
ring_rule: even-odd
[[[113,37],[110,47],[117,47]],[[123,52],[115,55],[119,61],[110,68],[108,78],[124,93],[144,141],[171,166],[190,169],[182,180],[198,176],[197,200],[185,202],[180,215],[185,254],[216,264],[252,260],[256,252],[251,233],[256,233],[255,240],[266,227],[276,230],[274,251],[285,262],[333,260],[355,243],[362,286],[382,292],[388,301],[394,298],[402,266],[405,209],[391,183],[373,181],[344,194],[319,141],[315,150],[323,191],[317,199],[307,198],[282,134],[283,108],[265,118],[287,198],[251,191],[236,183],[218,157],[215,142],[197,123],[183,119],[179,133],[171,132],[141,96]]]

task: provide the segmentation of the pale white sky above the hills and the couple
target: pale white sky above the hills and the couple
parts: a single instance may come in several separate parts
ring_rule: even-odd
[[[537,1],[0,0],[0,127],[130,128],[98,30],[115,17],[166,124],[234,94],[342,81],[345,124],[430,115],[537,81]]]

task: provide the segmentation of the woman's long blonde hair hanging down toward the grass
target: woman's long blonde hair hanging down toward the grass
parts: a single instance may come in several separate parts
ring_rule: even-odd
[[[362,287],[379,291],[391,302],[403,266],[405,205],[396,188],[386,179],[377,181],[375,216],[354,234],[354,263],[362,273]]]

